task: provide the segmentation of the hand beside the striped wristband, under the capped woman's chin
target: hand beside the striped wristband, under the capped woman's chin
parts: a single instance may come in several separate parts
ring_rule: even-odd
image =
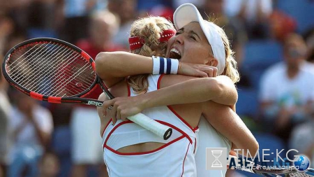
[[[215,66],[207,66],[206,64],[179,62],[178,74],[200,78],[210,78],[217,76],[217,68]]]

